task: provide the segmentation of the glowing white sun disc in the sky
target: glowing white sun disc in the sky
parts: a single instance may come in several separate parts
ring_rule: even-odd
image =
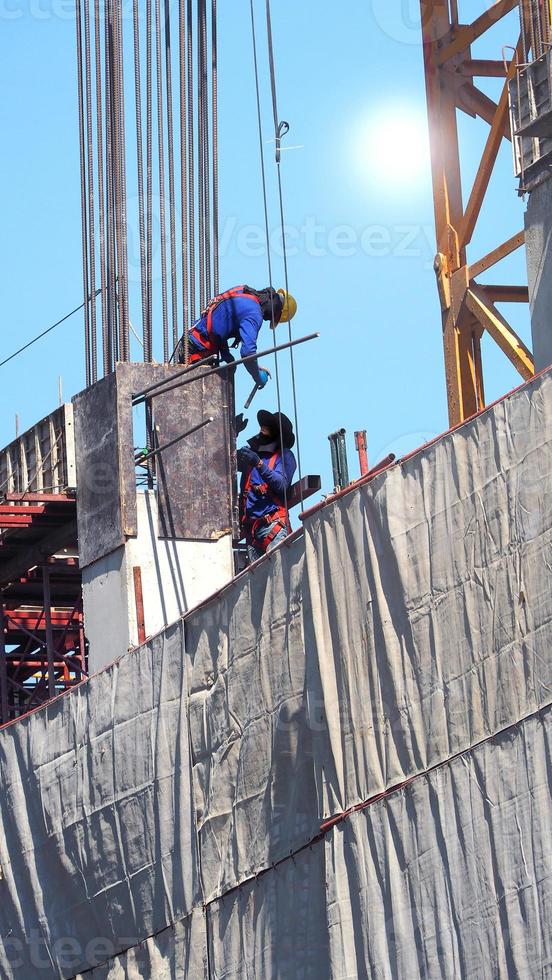
[[[380,110],[364,121],[355,142],[357,165],[371,183],[412,190],[429,171],[427,119],[418,107]]]

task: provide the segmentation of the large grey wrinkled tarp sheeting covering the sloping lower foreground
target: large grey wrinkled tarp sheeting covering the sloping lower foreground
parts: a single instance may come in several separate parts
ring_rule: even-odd
[[[551,969],[551,491],[545,374],[2,731],[2,976]]]

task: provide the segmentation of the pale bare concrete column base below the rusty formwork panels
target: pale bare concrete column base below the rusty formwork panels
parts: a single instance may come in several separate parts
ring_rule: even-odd
[[[138,536],[83,570],[89,667],[100,670],[138,645],[133,569],[139,566],[146,635],[158,633],[233,576],[232,536],[218,541],[157,537],[154,493],[137,494]]]

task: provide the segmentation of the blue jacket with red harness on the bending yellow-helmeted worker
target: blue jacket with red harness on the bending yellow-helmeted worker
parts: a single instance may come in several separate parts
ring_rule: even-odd
[[[219,354],[227,364],[232,357],[229,341],[241,342],[240,357],[257,353],[257,337],[263,324],[259,300],[251,293],[244,293],[243,286],[234,286],[215,297],[199,320],[190,330],[192,349],[207,354]],[[249,361],[245,367],[257,384],[260,384],[257,361]]]

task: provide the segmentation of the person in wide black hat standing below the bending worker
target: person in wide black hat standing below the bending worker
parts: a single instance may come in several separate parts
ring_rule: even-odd
[[[250,562],[262,558],[291,532],[286,494],[297,466],[287,415],[261,410],[257,420],[259,434],[238,450],[240,519]]]

